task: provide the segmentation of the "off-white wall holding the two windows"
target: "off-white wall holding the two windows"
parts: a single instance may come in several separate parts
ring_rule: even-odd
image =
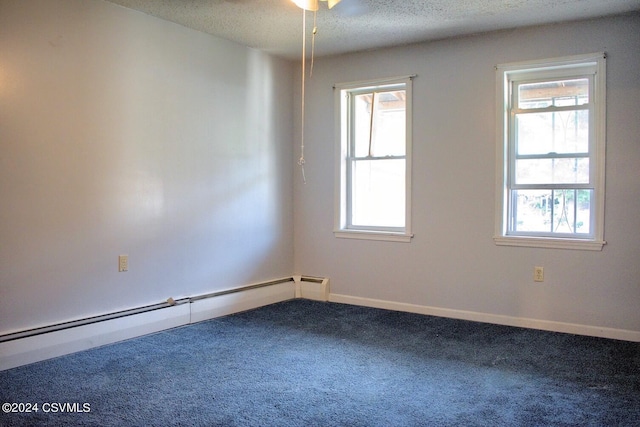
[[[608,55],[608,244],[496,246],[494,66],[599,51]],[[415,237],[337,239],[332,86],[414,73]],[[307,184],[294,174],[297,272],[329,277],[332,294],[640,331],[640,15],[317,58],[308,84]],[[533,282],[534,266],[544,283]]]

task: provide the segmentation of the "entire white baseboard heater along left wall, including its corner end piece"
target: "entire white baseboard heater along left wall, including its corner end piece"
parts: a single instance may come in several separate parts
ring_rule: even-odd
[[[328,301],[327,279],[293,276],[0,335],[0,370],[293,298]]]

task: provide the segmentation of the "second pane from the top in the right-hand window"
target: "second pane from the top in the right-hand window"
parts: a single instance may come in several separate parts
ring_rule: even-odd
[[[516,115],[518,154],[588,153],[589,111]]]

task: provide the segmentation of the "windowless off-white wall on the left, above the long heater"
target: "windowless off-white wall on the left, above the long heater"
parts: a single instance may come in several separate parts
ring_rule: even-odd
[[[0,334],[291,275],[292,71],[102,0],[0,0]]]

